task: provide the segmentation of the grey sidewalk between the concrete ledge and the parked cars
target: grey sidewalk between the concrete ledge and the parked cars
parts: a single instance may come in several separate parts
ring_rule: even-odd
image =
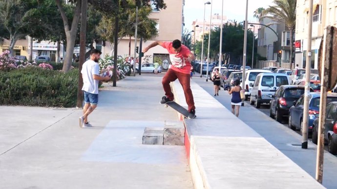
[[[210,95],[214,93],[212,82],[210,80],[206,82],[205,77],[195,76],[193,81]],[[228,110],[231,110],[231,97],[227,91],[222,89],[219,96],[214,98]],[[311,139],[308,141],[308,149],[301,149],[301,135],[260,112],[249,103],[240,107],[239,119],[315,178],[317,146],[311,142]],[[327,189],[337,188],[336,170],[336,156],[324,151],[323,186]]]

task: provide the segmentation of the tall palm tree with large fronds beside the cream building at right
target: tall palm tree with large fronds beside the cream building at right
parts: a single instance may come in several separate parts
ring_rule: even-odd
[[[283,22],[290,31],[290,68],[293,64],[293,36],[296,24],[296,0],[274,0],[274,5],[262,12],[262,18]]]

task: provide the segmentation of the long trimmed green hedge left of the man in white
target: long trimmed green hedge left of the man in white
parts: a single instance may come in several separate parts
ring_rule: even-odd
[[[27,67],[0,72],[0,105],[75,107],[78,69],[60,71]]]

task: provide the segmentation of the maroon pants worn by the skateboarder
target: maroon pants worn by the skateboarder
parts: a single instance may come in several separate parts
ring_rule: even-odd
[[[189,74],[183,74],[177,71],[174,71],[172,69],[169,69],[168,72],[163,77],[162,83],[165,91],[165,95],[170,99],[173,100],[173,93],[171,91],[171,87],[169,86],[169,83],[171,81],[175,81],[178,78],[180,84],[183,86],[184,94],[186,103],[189,106],[189,110],[194,110],[194,100],[193,100],[193,94],[192,90],[190,88],[190,75]]]

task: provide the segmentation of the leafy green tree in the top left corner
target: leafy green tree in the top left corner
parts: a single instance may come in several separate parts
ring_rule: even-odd
[[[1,37],[9,39],[10,56],[16,41],[34,31],[39,31],[45,24],[31,15],[41,8],[43,0],[0,0]]]

